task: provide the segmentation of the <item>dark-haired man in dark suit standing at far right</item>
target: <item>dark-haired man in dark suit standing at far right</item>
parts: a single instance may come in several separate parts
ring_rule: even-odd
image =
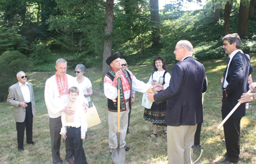
[[[222,119],[230,113],[242,93],[247,92],[248,77],[253,72],[250,59],[241,52],[241,40],[237,33],[222,38],[225,53],[229,54],[228,63],[222,81]],[[224,123],[226,158],[218,163],[237,163],[240,154],[240,121],[245,116],[245,103]]]

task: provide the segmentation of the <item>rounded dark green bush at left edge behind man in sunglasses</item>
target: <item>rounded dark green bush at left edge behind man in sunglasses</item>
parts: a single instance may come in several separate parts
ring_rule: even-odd
[[[16,83],[16,73],[32,68],[30,58],[19,51],[6,51],[0,56],[0,100],[7,97],[8,88]]]

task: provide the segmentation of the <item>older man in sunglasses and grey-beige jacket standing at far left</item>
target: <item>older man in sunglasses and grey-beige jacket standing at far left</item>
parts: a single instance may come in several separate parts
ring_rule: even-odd
[[[26,127],[27,143],[35,145],[32,141],[33,117],[36,116],[35,98],[32,83],[27,82],[27,76],[23,71],[16,75],[18,83],[11,85],[7,102],[14,106],[14,118],[16,122],[18,150],[23,151],[24,131]]]

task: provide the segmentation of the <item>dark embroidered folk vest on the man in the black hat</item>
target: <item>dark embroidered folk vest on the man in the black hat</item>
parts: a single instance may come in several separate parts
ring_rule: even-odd
[[[129,81],[129,85],[130,85],[130,98],[131,98],[131,75],[129,74],[128,71],[126,70],[122,70],[123,73],[125,73],[125,77],[126,80]],[[113,72],[112,70],[109,71],[105,76],[108,76],[112,81],[115,78],[115,72]],[[117,84],[117,85],[121,85],[122,86],[122,80],[120,80],[121,84]],[[123,88],[120,87],[120,100],[121,100],[121,105],[120,105],[120,111],[126,111],[126,105],[125,105],[125,97],[123,95]],[[110,100],[108,98],[108,110],[109,111],[114,111],[117,112],[117,98],[115,98],[114,100]],[[129,109],[131,109],[131,101],[129,101]]]

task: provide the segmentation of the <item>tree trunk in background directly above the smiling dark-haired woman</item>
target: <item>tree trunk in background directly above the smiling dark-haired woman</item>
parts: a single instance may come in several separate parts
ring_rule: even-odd
[[[151,22],[152,22],[152,45],[151,47],[155,47],[159,45],[160,41],[160,18],[159,18],[159,7],[158,0],[150,0],[150,8],[151,8]]]

